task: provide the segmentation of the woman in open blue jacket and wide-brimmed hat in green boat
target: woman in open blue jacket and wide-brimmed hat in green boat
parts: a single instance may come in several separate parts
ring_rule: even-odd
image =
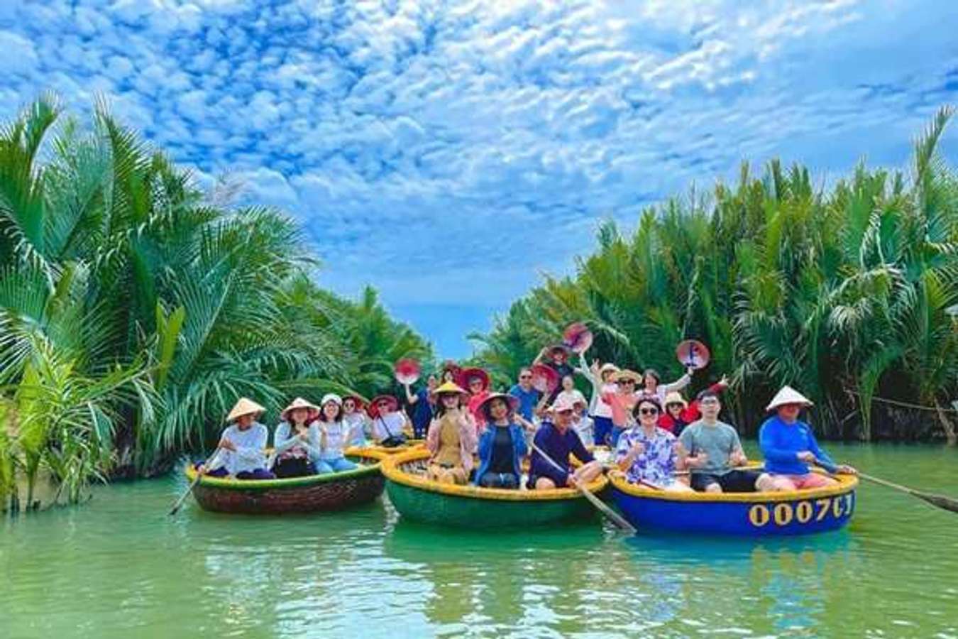
[[[486,428],[479,437],[476,485],[489,489],[517,489],[521,460],[528,450],[525,434],[515,419],[519,400],[493,393],[479,405]]]

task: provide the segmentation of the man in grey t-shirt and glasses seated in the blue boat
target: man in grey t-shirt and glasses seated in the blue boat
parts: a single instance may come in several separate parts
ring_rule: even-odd
[[[713,391],[698,394],[702,419],[685,427],[678,441],[679,459],[692,471],[692,488],[705,492],[753,492],[762,473],[742,470],[748,463],[739,433],[719,422],[721,403]]]

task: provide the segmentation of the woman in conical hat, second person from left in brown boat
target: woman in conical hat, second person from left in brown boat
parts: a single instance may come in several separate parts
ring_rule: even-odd
[[[314,420],[319,406],[296,398],[280,413],[283,422],[273,433],[273,454],[277,477],[304,477],[316,474],[319,459],[319,429]]]

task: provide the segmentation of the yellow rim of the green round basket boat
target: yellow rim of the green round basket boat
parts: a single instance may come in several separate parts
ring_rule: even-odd
[[[439,492],[441,494],[452,495],[456,497],[469,497],[472,499],[494,499],[498,501],[556,501],[559,499],[584,499],[582,493],[576,489],[556,489],[555,491],[529,491],[526,489],[507,490],[507,489],[487,489],[467,484],[459,486],[456,484],[440,484],[426,479],[424,476],[414,475],[399,468],[409,462],[424,462],[429,459],[430,453],[424,448],[407,450],[397,455],[389,455],[382,460],[382,474],[391,482],[396,482],[402,486],[420,489],[422,491]],[[596,479],[586,485],[590,492],[602,491],[608,485],[608,479],[605,475],[599,475]]]

